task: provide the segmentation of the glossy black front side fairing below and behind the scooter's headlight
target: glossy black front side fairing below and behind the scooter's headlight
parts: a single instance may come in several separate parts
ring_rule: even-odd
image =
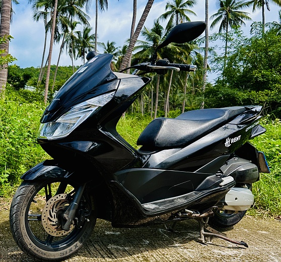
[[[97,109],[72,133],[57,140],[38,139],[41,147],[51,157],[69,163],[83,165],[89,163],[98,172],[106,175],[129,164],[134,165],[139,159],[139,162],[143,163],[142,155],[118,135],[116,123],[150,79],[118,73],[116,75],[117,80],[96,88],[102,91],[105,87],[118,83],[114,97]]]

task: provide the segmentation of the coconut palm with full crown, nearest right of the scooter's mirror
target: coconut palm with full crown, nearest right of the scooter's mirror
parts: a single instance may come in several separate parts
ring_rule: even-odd
[[[245,20],[252,20],[247,12],[241,11],[250,4],[251,2],[244,2],[243,0],[217,0],[218,13],[210,17],[210,19],[214,19],[210,28],[213,29],[217,24],[221,23],[219,32],[225,31],[226,33],[224,71],[226,67],[229,28],[245,25]]]

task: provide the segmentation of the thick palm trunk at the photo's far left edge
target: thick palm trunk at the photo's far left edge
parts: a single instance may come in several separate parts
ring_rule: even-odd
[[[11,0],[2,0],[1,6],[1,24],[0,24],[0,37],[10,35],[11,24]],[[5,50],[2,56],[6,56],[9,53],[9,40],[0,45],[1,50]],[[3,64],[0,70],[0,94],[5,91],[8,78],[8,64]]]

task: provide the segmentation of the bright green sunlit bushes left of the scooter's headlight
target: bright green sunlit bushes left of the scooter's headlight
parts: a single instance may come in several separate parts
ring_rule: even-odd
[[[12,100],[13,97],[18,99]],[[5,100],[0,99],[0,185],[18,183],[26,170],[46,157],[36,143],[43,107],[25,101],[20,93],[11,90]]]

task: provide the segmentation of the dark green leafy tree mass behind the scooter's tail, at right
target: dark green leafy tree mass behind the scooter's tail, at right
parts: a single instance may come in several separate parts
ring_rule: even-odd
[[[206,88],[205,105],[264,105],[267,113],[281,117],[281,36],[275,30],[262,34],[260,23],[253,23],[251,37],[240,29],[229,36],[227,67],[214,86]],[[215,40],[223,34],[213,36]],[[223,55],[214,55],[217,72],[223,71]]]

